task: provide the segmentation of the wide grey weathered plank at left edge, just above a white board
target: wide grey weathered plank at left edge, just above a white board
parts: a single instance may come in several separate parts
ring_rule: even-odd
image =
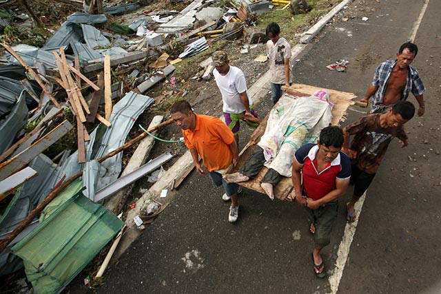
[[[33,160],[36,156],[41,154],[45,149],[48,149],[50,145],[54,144],[67,134],[72,129],[72,125],[68,120],[64,120],[63,123],[57,125],[52,131],[43,136],[40,140],[30,145],[28,149],[21,151],[16,156],[0,163],[0,180],[7,178],[15,171],[22,169],[25,165]]]

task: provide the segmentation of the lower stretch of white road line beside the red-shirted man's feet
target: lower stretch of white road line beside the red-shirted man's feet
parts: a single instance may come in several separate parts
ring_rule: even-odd
[[[360,197],[360,200],[357,201],[355,205],[357,218],[355,222],[347,222],[345,227],[345,233],[343,233],[342,241],[340,242],[340,246],[338,246],[337,252],[337,260],[336,267],[334,269],[334,273],[329,277],[329,284],[331,285],[331,293],[336,294],[338,291],[338,285],[340,284],[340,280],[342,279],[343,270],[345,269],[345,264],[347,258],[349,256],[349,249],[351,248],[351,243],[353,240],[353,235],[356,233],[358,217],[360,216],[361,208],[363,203],[365,202],[366,192],[363,196]]]

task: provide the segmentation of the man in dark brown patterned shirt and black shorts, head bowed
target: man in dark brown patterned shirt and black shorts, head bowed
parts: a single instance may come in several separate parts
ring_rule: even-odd
[[[353,206],[371,184],[391,140],[397,137],[401,147],[407,146],[403,125],[414,114],[412,103],[400,101],[383,114],[363,116],[343,129],[345,141],[342,151],[351,158],[351,184],[354,185],[352,200],[346,204],[348,222],[356,220]],[[352,135],[351,148],[348,149]]]

